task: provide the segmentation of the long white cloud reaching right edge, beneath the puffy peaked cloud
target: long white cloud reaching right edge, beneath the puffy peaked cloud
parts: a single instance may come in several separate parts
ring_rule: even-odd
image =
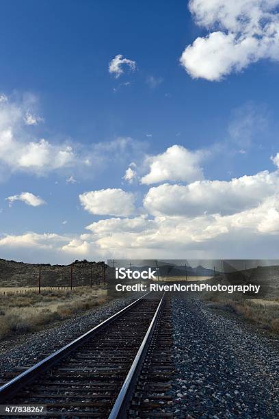
[[[187,186],[165,183],[148,190],[144,207],[152,215],[234,214],[261,203],[277,192],[279,172],[265,170],[230,181],[202,180]]]

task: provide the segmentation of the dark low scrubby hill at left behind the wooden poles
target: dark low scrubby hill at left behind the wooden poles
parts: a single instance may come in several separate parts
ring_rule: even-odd
[[[92,282],[103,280],[103,262],[83,260],[75,261],[70,265],[39,265],[0,259],[0,287],[34,287],[38,285],[39,266],[41,266],[42,286],[69,285],[71,266],[73,285],[90,284],[90,266],[92,266]],[[105,265],[105,270],[107,272],[107,265]]]

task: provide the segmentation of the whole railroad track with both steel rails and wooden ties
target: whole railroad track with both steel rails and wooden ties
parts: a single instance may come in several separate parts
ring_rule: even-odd
[[[137,299],[2,385],[0,404],[46,405],[50,418],[172,418],[169,305]]]

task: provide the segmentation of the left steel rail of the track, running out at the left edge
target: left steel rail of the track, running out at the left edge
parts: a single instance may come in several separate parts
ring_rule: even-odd
[[[139,301],[144,299],[145,296],[150,294],[150,292],[147,292],[143,296],[141,296],[136,301],[133,301],[133,303],[127,305],[126,307],[122,308],[119,312],[116,314],[113,314],[103,322],[101,322],[99,325],[93,327],[93,329],[90,329],[83,335],[79,336],[79,338],[73,340],[72,342],[66,344],[62,348],[58,349],[48,357],[42,359],[42,361],[39,361],[34,366],[31,366],[26,371],[22,372],[21,374],[14,377],[14,379],[8,381],[7,383],[1,385],[0,387],[0,404],[7,401],[8,398],[11,398],[16,393],[23,388],[23,386],[27,384],[31,384],[33,381],[35,381],[38,378],[38,375],[42,374],[42,372],[49,370],[52,366],[57,364],[58,361],[60,361],[62,358],[69,355],[70,352],[74,351],[77,347],[81,346],[88,340],[94,337],[96,333],[99,331],[105,329],[108,325],[111,324],[111,322],[114,322],[121,314],[124,312],[127,312],[131,307],[134,305],[137,305]]]

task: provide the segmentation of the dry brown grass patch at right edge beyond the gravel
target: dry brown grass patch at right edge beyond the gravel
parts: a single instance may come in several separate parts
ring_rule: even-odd
[[[273,333],[279,333],[279,299],[246,299],[242,296],[221,296],[218,293],[204,294],[208,307],[234,312],[261,325]]]

